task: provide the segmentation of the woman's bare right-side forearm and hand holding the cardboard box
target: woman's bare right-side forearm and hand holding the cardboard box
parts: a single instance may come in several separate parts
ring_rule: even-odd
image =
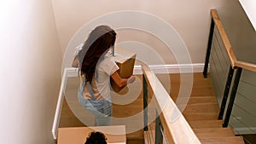
[[[135,81],[134,76],[131,76],[130,78],[121,78],[117,71],[113,72],[113,74],[111,75],[111,78],[120,88],[127,84],[131,84]]]

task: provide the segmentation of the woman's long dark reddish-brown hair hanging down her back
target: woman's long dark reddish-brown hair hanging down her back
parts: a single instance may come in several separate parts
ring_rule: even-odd
[[[113,46],[115,37],[116,33],[109,26],[97,26],[90,32],[78,55],[81,75],[85,74],[86,82],[92,81],[98,60]]]

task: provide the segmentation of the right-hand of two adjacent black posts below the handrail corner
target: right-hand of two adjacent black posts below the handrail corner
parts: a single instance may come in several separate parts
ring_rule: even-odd
[[[235,102],[235,98],[236,98],[236,91],[237,91],[238,84],[239,84],[240,77],[241,77],[241,70],[242,70],[241,67],[238,67],[236,70],[236,77],[235,77],[234,84],[233,84],[231,94],[230,94],[229,106],[228,106],[228,109],[227,109],[227,112],[226,112],[226,115],[224,118],[224,124],[222,124],[222,126],[224,128],[228,127],[229,122],[230,122],[230,115],[231,115],[232,108],[234,106],[234,102]]]

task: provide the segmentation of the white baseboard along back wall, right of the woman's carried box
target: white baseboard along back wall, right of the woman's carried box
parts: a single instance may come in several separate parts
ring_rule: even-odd
[[[195,73],[203,72],[204,63],[172,64],[172,65],[148,65],[154,73]],[[142,74],[141,66],[134,66],[133,74]]]

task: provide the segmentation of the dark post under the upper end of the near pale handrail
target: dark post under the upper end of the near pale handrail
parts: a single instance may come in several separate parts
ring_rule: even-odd
[[[148,84],[143,75],[143,117],[144,117],[144,131],[148,131]]]

